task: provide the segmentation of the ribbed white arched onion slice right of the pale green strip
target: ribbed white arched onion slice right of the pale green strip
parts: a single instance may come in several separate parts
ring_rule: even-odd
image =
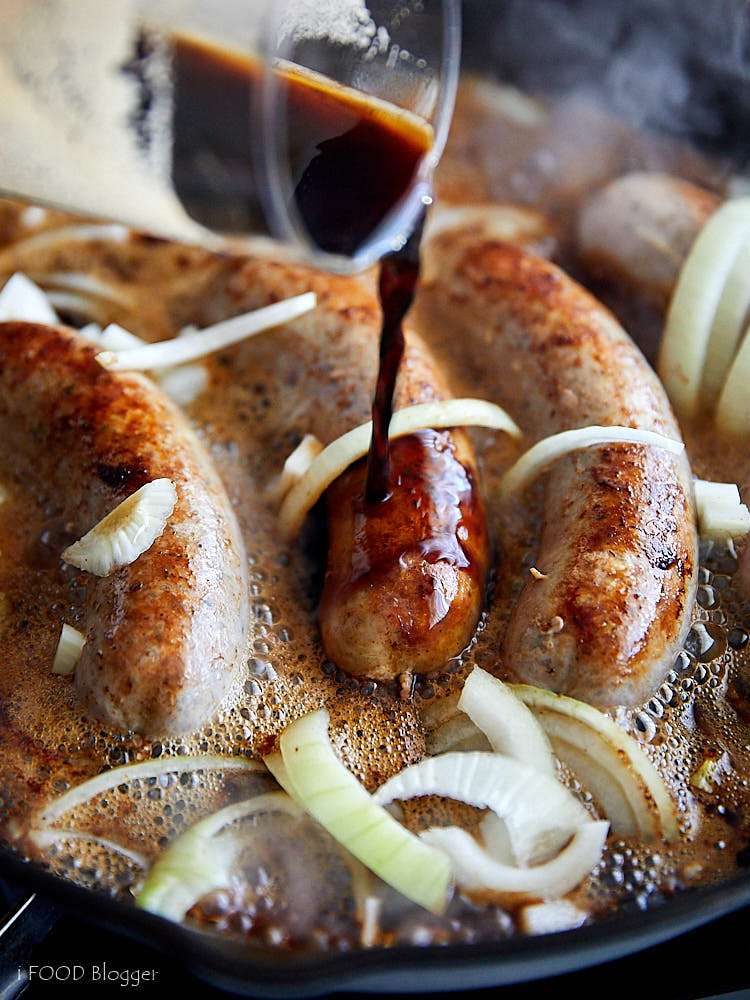
[[[519,864],[551,857],[591,822],[586,809],[556,778],[523,761],[480,750],[427,757],[386,781],[374,799],[385,806],[420,795],[492,809],[508,827]]]

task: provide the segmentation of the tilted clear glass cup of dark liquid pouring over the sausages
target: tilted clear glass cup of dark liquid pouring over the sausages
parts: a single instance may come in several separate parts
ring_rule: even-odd
[[[270,233],[341,271],[397,248],[429,200],[455,96],[458,0],[4,6],[8,194],[203,242]],[[391,146],[366,178],[368,130],[371,157],[378,136]],[[399,157],[398,183],[383,187]],[[362,181],[348,201],[347,178]],[[323,237],[319,220],[339,203]]]

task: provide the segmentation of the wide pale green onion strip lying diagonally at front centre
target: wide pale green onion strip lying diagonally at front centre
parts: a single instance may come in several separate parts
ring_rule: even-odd
[[[377,805],[341,763],[328,738],[328,712],[319,709],[297,719],[279,743],[296,801],[384,882],[441,913],[451,882],[448,858]]]

